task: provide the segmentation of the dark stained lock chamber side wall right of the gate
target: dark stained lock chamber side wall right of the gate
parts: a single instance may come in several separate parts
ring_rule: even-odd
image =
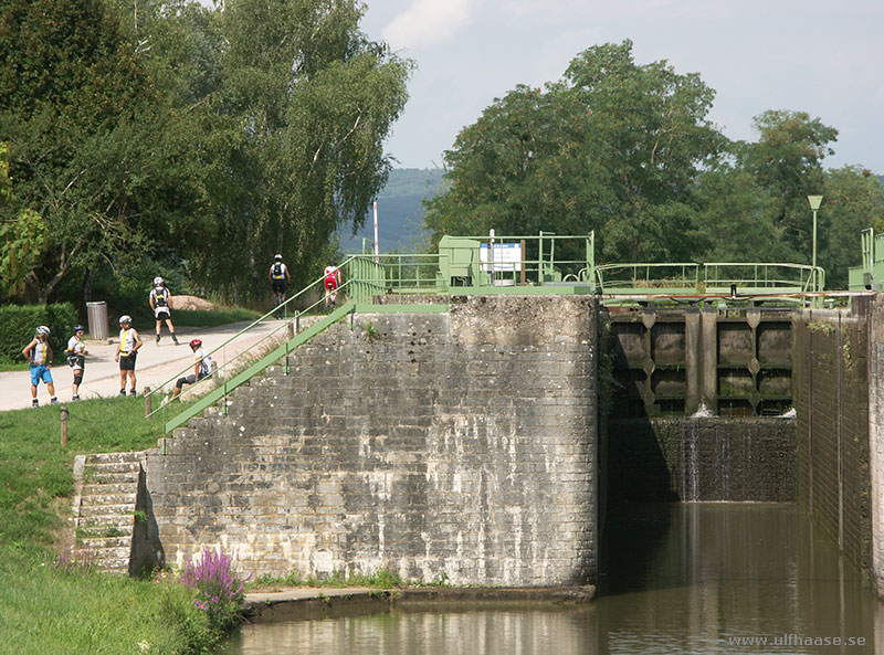
[[[880,385],[881,346],[869,340],[867,311],[806,309],[793,325],[798,501],[854,564],[870,570],[870,392]]]

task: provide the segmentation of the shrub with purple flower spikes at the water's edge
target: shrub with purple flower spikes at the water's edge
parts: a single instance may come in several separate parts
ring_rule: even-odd
[[[215,553],[203,548],[198,560],[188,560],[181,581],[194,593],[193,604],[213,626],[228,627],[241,617],[245,580],[239,578],[223,549]]]

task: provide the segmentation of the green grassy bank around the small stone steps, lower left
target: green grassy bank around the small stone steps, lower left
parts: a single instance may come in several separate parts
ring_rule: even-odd
[[[136,399],[70,410],[65,448],[59,408],[0,413],[0,654],[203,652],[218,635],[185,587],[53,566],[70,532],[74,456],[154,447],[159,435]]]

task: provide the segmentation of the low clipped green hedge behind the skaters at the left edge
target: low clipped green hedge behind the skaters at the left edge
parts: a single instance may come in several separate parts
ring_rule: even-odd
[[[76,311],[71,303],[0,306],[0,363],[23,361],[22,348],[34,338],[34,328],[39,325],[52,331],[49,344],[55,361],[61,361],[75,323]]]

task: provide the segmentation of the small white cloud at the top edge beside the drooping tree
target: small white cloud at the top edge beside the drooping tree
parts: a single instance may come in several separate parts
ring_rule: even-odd
[[[414,0],[383,30],[383,40],[417,50],[448,41],[469,22],[470,0]]]

